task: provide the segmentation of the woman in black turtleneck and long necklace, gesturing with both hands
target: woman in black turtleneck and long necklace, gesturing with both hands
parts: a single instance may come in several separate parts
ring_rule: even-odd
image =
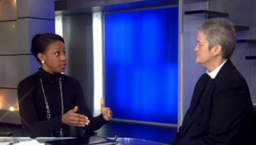
[[[66,67],[61,36],[36,35],[32,39],[31,52],[42,66],[18,84],[24,136],[69,137],[69,126],[79,126],[90,132],[112,119],[112,112],[105,107],[104,100],[101,100],[101,115],[93,117],[85,104],[79,81],[61,74]]]

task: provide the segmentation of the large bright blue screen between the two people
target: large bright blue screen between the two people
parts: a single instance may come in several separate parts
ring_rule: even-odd
[[[113,118],[177,124],[178,8],[105,15],[105,102]]]

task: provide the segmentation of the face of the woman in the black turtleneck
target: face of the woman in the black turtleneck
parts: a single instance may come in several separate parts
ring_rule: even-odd
[[[53,41],[48,45],[44,54],[39,53],[38,57],[45,71],[54,74],[64,72],[66,69],[65,45],[61,41]]]

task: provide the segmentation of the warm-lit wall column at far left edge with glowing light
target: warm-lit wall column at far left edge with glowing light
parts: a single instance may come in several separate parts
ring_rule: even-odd
[[[19,82],[16,1],[0,0],[0,122],[19,123],[11,110],[18,109]],[[8,113],[10,112],[10,113]]]

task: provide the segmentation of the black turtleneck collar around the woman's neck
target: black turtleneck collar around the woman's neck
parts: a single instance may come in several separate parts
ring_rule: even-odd
[[[60,73],[51,74],[45,71],[42,67],[39,67],[38,75],[40,79],[50,83],[57,82],[60,78]]]

